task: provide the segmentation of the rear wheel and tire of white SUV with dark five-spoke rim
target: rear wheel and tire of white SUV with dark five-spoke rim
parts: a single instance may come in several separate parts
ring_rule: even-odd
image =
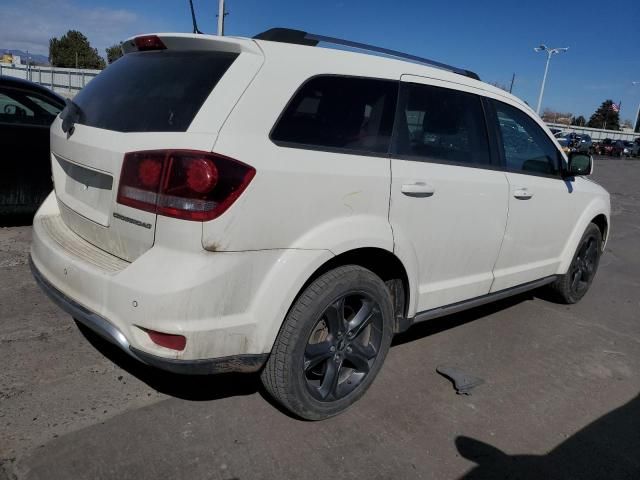
[[[391,295],[377,275],[356,265],[331,270],[294,302],[262,383],[300,418],[337,415],[373,382],[391,344],[393,319]]]

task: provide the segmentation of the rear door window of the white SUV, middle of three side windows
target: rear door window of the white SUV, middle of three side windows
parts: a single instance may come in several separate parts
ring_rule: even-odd
[[[425,161],[491,164],[480,97],[415,83],[401,88],[396,153]]]

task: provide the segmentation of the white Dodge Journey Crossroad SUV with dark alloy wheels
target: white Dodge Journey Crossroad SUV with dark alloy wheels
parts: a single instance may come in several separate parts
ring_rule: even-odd
[[[322,419],[415,322],[588,289],[610,210],[581,177],[591,158],[472,72],[286,29],[123,48],[51,127],[31,258],[62,308],[136,359],[262,370]]]

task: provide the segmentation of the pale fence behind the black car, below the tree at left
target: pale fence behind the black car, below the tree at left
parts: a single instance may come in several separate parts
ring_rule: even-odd
[[[84,68],[57,68],[0,63],[0,75],[23,78],[45,87],[65,97],[73,97],[89,83],[101,70]]]

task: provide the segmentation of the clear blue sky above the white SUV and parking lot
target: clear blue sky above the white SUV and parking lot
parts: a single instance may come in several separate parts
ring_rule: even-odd
[[[101,54],[142,32],[190,31],[188,0],[3,0],[0,48],[47,54],[68,29]],[[194,0],[200,29],[215,31],[217,0]],[[543,108],[589,116],[605,99],[621,117],[640,102],[640,1],[227,0],[226,33],[251,36],[273,26],[299,28],[430,57],[508,85],[535,108],[545,55],[533,47],[570,47],[551,61]]]

